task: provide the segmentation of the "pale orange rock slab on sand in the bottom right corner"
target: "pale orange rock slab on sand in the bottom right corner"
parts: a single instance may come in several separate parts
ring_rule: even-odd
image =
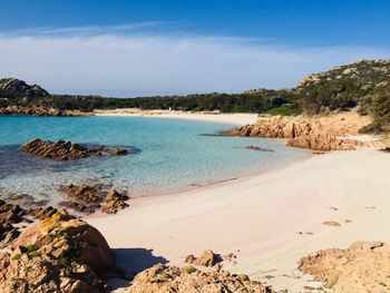
[[[324,250],[303,257],[299,270],[332,286],[335,293],[388,292],[390,244],[355,242],[347,250]]]

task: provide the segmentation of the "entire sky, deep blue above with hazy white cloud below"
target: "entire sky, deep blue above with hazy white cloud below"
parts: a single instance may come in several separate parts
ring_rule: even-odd
[[[293,87],[390,58],[388,0],[1,0],[0,77],[117,97]]]

